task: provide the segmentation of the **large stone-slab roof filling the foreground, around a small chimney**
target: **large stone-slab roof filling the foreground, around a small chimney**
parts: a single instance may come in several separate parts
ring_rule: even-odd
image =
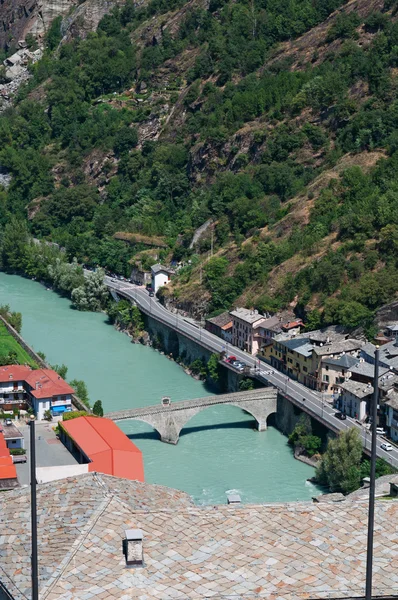
[[[363,596],[367,505],[195,507],[177,490],[87,474],[38,488],[41,600]],[[0,499],[0,579],[29,598],[28,489]],[[398,502],[376,503],[375,596],[398,586]],[[144,567],[127,569],[126,529]]]

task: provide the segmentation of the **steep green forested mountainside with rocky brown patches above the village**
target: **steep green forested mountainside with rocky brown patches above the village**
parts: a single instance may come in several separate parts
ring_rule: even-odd
[[[125,274],[182,262],[167,294],[194,314],[355,327],[396,297],[396,0],[129,0],[84,40],[67,25],[0,118],[3,228]]]

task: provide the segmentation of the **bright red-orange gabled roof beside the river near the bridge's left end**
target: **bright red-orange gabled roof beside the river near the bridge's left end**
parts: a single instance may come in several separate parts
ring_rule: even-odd
[[[91,461],[89,471],[144,481],[142,453],[109,419],[78,417],[62,428]]]

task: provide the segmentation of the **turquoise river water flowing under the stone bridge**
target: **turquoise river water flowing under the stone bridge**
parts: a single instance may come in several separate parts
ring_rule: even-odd
[[[68,379],[83,379],[92,403],[104,411],[209,395],[203,383],[165,356],[132,344],[98,313],[82,313],[37,282],[0,273],[0,304],[22,313],[22,335],[51,364],[65,363]],[[145,479],[184,490],[198,504],[220,504],[235,490],[243,502],[306,500],[317,489],[313,469],[292,456],[274,427],[259,433],[237,407],[210,407],[189,421],[176,446],[163,444],[151,427],[122,421],[142,450]]]

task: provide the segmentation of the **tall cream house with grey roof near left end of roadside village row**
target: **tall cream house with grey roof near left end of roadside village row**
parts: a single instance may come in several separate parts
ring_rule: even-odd
[[[247,308],[236,308],[230,312],[230,315],[233,345],[256,355],[264,339],[260,327],[265,323],[266,317],[257,310]]]

